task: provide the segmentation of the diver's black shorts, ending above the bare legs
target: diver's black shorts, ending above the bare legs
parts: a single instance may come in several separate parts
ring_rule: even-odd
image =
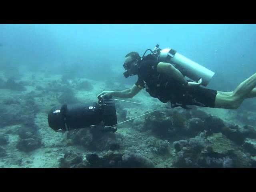
[[[188,94],[180,96],[177,101],[186,105],[214,108],[216,95],[216,90],[198,87],[195,90],[190,90]]]

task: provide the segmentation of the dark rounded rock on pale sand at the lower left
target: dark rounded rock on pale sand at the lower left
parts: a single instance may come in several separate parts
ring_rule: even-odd
[[[24,152],[33,151],[33,150],[35,150],[37,148],[40,148],[40,146],[41,146],[40,139],[34,139],[34,138],[21,139],[18,142],[18,144],[16,145],[16,147],[20,151],[24,151]]]

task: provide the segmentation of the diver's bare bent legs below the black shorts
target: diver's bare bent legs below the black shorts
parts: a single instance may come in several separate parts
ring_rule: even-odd
[[[236,109],[244,101],[245,98],[255,96],[256,73],[240,83],[231,94],[219,92],[215,99],[215,108]],[[228,93],[228,92],[226,92]]]

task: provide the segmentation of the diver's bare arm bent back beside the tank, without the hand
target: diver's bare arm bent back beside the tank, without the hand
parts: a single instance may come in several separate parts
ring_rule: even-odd
[[[188,85],[188,81],[184,78],[182,73],[178,69],[176,69],[174,66],[172,66],[172,64],[170,63],[159,62],[156,67],[156,70],[158,73],[166,74],[170,78],[177,80],[184,86]]]

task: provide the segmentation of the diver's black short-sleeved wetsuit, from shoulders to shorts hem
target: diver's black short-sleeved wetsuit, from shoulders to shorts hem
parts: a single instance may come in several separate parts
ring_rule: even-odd
[[[172,104],[196,105],[214,108],[217,91],[202,87],[188,88],[176,80],[160,74],[156,70],[159,62],[156,60],[142,60],[139,62],[138,80],[136,86],[146,91],[150,96],[161,102]]]

